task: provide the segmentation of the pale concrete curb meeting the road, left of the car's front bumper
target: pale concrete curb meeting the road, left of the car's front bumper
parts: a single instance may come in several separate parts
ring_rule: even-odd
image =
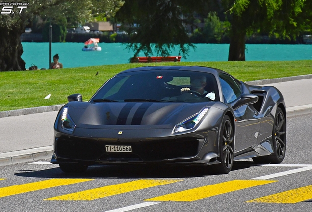
[[[40,159],[49,159],[52,157],[52,155],[53,145],[14,152],[0,153],[0,166],[30,162]]]

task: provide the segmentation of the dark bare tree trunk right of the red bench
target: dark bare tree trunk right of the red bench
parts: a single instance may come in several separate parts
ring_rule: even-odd
[[[238,22],[239,23],[239,22]],[[228,61],[245,61],[246,29],[232,24]]]

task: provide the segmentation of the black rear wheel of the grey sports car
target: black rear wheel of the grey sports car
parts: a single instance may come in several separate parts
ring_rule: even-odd
[[[285,158],[286,152],[286,120],[281,108],[277,108],[274,117],[272,130],[272,140],[274,153],[268,156],[259,156],[252,158],[255,163],[281,163]]]

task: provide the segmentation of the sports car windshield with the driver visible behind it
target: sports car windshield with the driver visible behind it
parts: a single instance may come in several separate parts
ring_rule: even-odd
[[[214,75],[178,70],[124,73],[110,79],[90,102],[219,101]]]

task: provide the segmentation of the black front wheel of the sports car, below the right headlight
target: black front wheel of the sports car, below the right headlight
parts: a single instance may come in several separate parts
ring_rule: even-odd
[[[234,131],[229,116],[224,116],[221,126],[220,141],[219,141],[220,156],[218,161],[220,164],[216,165],[217,174],[228,174],[234,161]]]

